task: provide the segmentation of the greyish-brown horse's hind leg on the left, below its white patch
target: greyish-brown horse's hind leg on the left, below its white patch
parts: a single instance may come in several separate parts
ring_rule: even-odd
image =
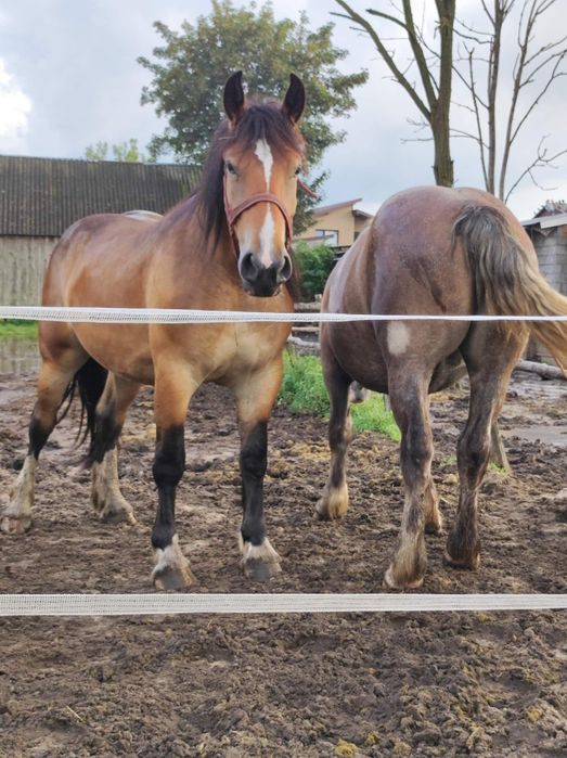
[[[401,431],[400,463],[405,485],[405,500],[398,548],[385,574],[388,589],[421,587],[427,556],[424,529],[433,521],[431,490],[433,436],[428,412],[428,378],[408,376],[408,368],[389,374],[389,395],[396,422]]]

